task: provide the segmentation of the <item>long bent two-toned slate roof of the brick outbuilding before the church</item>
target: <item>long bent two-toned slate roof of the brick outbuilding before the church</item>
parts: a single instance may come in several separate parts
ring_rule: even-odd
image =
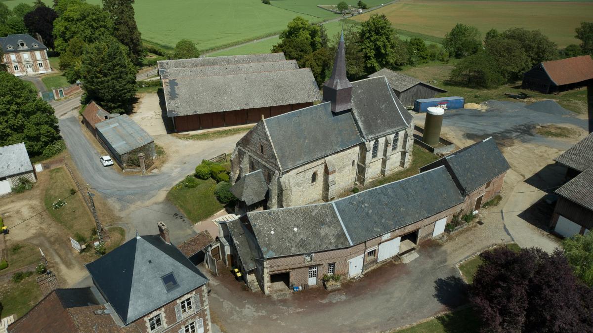
[[[345,248],[463,203],[444,167],[339,200],[250,212],[264,258]],[[296,229],[296,230],[295,230]]]

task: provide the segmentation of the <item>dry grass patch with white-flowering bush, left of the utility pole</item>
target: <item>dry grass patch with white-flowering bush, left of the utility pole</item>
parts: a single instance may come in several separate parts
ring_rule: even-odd
[[[68,229],[68,236],[74,236],[78,232],[88,237],[95,223],[80,194],[71,195],[70,191],[74,188],[76,185],[68,174],[68,170],[64,167],[51,169],[49,185],[46,188],[43,201],[45,206],[49,207],[47,213]],[[60,209],[52,209],[52,203],[60,199],[66,201],[65,206]]]

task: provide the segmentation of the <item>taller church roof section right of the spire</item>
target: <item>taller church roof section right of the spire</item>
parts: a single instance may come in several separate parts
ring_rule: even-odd
[[[409,127],[406,107],[385,76],[352,82],[352,114],[365,141]]]

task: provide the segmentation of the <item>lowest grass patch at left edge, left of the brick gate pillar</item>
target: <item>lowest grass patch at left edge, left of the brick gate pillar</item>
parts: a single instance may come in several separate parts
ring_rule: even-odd
[[[0,286],[0,303],[4,306],[2,318],[13,314],[21,318],[42,299],[41,290],[35,281],[36,276],[37,274],[33,274],[20,283],[9,281]]]

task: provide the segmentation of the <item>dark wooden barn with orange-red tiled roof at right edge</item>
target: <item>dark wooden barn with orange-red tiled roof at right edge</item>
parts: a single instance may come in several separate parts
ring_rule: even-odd
[[[593,59],[591,56],[580,56],[538,63],[523,75],[521,87],[550,94],[592,82]]]

